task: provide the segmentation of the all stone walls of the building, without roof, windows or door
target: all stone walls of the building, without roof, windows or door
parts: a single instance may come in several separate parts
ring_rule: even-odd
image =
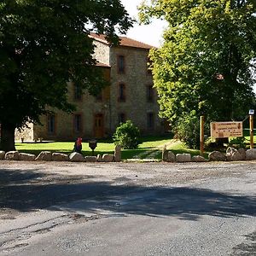
[[[77,106],[72,114],[51,109],[55,113],[55,132],[48,131],[48,119],[42,116],[43,125],[34,125],[29,133],[30,140],[43,138],[43,140],[70,141],[76,137],[96,137],[96,115],[102,114],[104,131],[102,137],[109,137],[119,125],[119,113],[125,114],[125,119],[131,119],[143,134],[160,134],[164,132],[164,125],[158,117],[159,105],[157,93],[154,91],[154,101],[147,101],[147,86],[153,85],[152,75],[148,73],[148,49],[134,47],[109,47],[108,44],[95,41],[96,59],[111,67],[102,67],[110,86],[103,90],[102,101],[84,93],[81,100],[74,100],[74,84],[68,84],[68,100]],[[125,73],[118,73],[118,55],[125,56]],[[101,67],[99,67],[101,68]],[[119,102],[119,83],[125,84],[125,102]],[[147,114],[153,113],[154,127],[148,129]],[[74,114],[80,114],[82,131],[74,131]],[[28,132],[28,131],[26,131]],[[20,136],[17,135],[17,138]]]

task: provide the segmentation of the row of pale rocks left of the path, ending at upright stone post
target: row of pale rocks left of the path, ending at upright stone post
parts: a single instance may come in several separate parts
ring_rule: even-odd
[[[77,152],[72,154],[51,153],[42,151],[38,156],[35,154],[20,153],[19,151],[0,151],[0,160],[26,160],[26,161],[71,161],[71,162],[119,162],[121,160],[121,147],[114,148],[114,154],[98,154],[97,156],[83,156]]]

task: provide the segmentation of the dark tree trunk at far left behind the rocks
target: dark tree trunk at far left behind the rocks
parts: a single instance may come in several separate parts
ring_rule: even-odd
[[[1,124],[1,147],[3,151],[15,150],[15,125]]]

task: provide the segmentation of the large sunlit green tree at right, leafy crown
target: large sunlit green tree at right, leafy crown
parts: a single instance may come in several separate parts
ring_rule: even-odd
[[[165,19],[150,58],[160,116],[177,122],[195,111],[211,120],[239,119],[252,108],[255,83],[254,0],[151,0],[140,18]]]

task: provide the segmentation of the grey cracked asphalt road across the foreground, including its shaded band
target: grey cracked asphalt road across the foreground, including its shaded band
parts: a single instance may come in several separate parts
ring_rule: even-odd
[[[255,191],[255,161],[0,161],[0,255],[256,255]]]

